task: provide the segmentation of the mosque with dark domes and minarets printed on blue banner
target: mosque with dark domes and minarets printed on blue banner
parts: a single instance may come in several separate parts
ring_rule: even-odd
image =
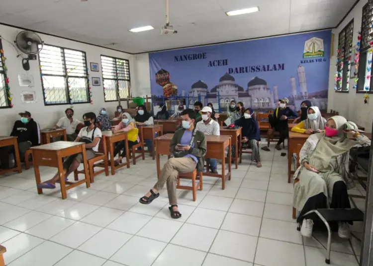
[[[297,94],[295,77],[291,76],[290,94],[286,96],[289,99],[288,106],[299,109],[300,103],[308,99],[312,102],[312,105],[318,106],[320,109],[326,109],[328,90],[308,93],[305,70],[301,65],[297,67],[297,76],[300,94]],[[279,101],[278,86],[274,86],[272,90],[267,85],[266,80],[256,76],[247,83],[247,89],[245,90],[242,86],[236,84],[235,78],[228,73],[220,77],[219,84],[211,90],[208,90],[207,84],[201,80],[193,83],[190,92],[188,92],[189,104],[197,101],[199,94],[202,103],[212,103],[214,106],[217,106],[219,98],[222,110],[226,110],[232,100],[243,102],[245,107],[254,109],[274,109]],[[183,90],[182,97],[186,96],[186,91]]]

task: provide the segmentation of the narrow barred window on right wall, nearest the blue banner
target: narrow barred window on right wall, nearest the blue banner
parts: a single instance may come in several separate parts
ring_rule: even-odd
[[[337,71],[338,77],[341,78],[337,83],[337,91],[349,91],[350,71],[351,71],[351,53],[352,40],[354,35],[354,19],[344,27],[338,35],[338,54],[339,62]]]

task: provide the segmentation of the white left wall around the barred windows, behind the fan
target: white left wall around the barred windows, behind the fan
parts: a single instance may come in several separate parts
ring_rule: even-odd
[[[0,25],[0,35],[3,39],[13,43],[17,33],[21,31],[20,29]],[[136,80],[134,73],[134,58],[130,54],[121,53],[105,48],[96,47],[93,45],[87,45],[79,42],[69,41],[62,38],[57,38],[49,35],[39,34],[41,39],[45,44],[56,45],[65,48],[76,49],[86,52],[87,55],[87,65],[89,68],[90,77],[99,77],[101,79],[101,86],[91,86],[92,87],[92,100],[93,105],[87,104],[74,104],[75,117],[82,120],[82,115],[87,112],[98,113],[98,109],[105,107],[108,113],[113,113],[117,106],[117,102],[104,102],[103,97],[103,87],[102,87],[102,73],[100,64],[100,55],[112,56],[122,59],[129,60],[130,74],[131,74],[131,88],[134,92],[136,88]],[[53,127],[57,120],[65,115],[64,111],[66,108],[70,107],[70,104],[66,105],[55,105],[55,106],[45,106],[43,100],[43,91],[41,86],[40,71],[39,71],[39,61],[30,61],[30,70],[25,71],[22,68],[21,59],[16,58],[17,52],[15,48],[8,42],[2,40],[2,46],[4,50],[4,56],[6,57],[5,65],[8,69],[7,76],[9,78],[9,87],[12,95],[13,108],[0,109],[0,135],[8,135],[11,132],[11,128],[14,121],[19,119],[17,115],[20,111],[29,111],[36,122],[40,124],[41,129],[48,127]],[[99,63],[99,72],[91,72],[90,62]],[[149,66],[148,66],[149,69]],[[32,75],[34,78],[35,86],[32,88],[20,87],[18,84],[18,74],[28,74]],[[150,78],[148,77],[149,82]],[[91,79],[92,84],[92,79]],[[150,85],[149,85],[150,88]],[[36,92],[36,103],[25,104],[21,102],[20,91],[33,90]],[[136,92],[134,93],[136,94]],[[126,105],[125,102],[121,103]],[[124,106],[123,106],[124,107]]]

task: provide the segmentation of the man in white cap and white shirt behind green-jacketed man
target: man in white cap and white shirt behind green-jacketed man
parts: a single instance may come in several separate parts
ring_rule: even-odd
[[[220,126],[215,120],[211,118],[212,109],[208,106],[203,107],[200,112],[202,115],[202,121],[199,121],[195,127],[197,131],[203,132],[206,135],[220,135]],[[216,159],[206,159],[210,166],[210,171],[213,174],[217,174]]]

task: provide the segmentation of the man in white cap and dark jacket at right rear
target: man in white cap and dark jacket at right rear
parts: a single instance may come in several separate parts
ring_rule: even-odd
[[[274,130],[280,133],[279,141],[276,144],[277,150],[281,150],[280,144],[289,135],[289,126],[288,126],[287,119],[298,117],[294,110],[286,106],[288,103],[289,103],[289,99],[282,98],[280,100],[280,107],[276,108],[273,115],[268,116],[268,119],[269,119],[269,122],[272,128],[268,131],[268,133],[272,134]]]

